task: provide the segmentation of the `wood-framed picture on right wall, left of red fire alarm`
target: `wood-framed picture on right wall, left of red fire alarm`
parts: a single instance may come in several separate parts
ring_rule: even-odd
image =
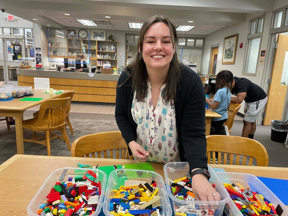
[[[234,64],[238,34],[224,38],[222,64]]]

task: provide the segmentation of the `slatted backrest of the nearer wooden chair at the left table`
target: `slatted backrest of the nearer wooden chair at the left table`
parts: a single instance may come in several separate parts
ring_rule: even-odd
[[[43,127],[43,119],[46,110],[48,110],[48,116],[45,116],[45,119],[47,118],[46,128],[56,128],[64,125],[66,120],[66,110],[69,101],[70,98],[57,98],[44,101],[40,105],[38,119],[34,126],[39,127],[40,125],[42,125]]]

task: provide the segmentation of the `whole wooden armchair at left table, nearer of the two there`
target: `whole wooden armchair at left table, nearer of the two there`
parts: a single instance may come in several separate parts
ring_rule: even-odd
[[[53,140],[59,136],[53,136],[49,138],[51,131],[61,131],[64,139],[67,143],[68,150],[71,150],[70,142],[65,130],[65,119],[66,119],[66,110],[69,104],[70,98],[60,98],[44,101],[40,105],[39,114],[33,119],[28,119],[22,121],[23,128],[29,129],[34,132],[46,132],[46,136],[35,137],[33,135],[33,140],[23,139],[24,142],[39,143],[44,146],[47,146],[48,155],[51,155],[50,152],[50,140]],[[45,115],[46,110],[48,114]],[[42,141],[38,141],[44,138]],[[45,139],[46,138],[46,139]]]

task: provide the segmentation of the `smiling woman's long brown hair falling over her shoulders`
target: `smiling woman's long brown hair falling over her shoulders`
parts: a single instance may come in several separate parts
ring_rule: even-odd
[[[136,91],[136,99],[138,101],[144,102],[144,98],[147,95],[148,74],[146,70],[146,64],[142,58],[143,41],[145,34],[150,28],[150,26],[156,22],[163,22],[168,26],[170,30],[172,45],[173,48],[175,49],[175,53],[170,62],[170,67],[168,70],[166,80],[164,81],[164,83],[166,83],[166,86],[163,92],[161,92],[161,94],[164,101],[167,102],[172,100],[176,101],[176,92],[178,90],[179,82],[182,76],[182,68],[176,53],[176,41],[177,41],[176,28],[174,24],[171,22],[171,20],[166,16],[155,15],[152,16],[150,19],[147,19],[146,22],[144,22],[139,33],[139,40],[137,44],[137,50],[138,50],[137,57],[133,62],[131,62],[131,64],[129,64],[126,67],[125,72],[128,73],[128,78],[125,80],[125,82],[127,82],[128,79],[132,78],[132,90],[133,92]],[[120,86],[124,85],[125,82],[123,82]]]

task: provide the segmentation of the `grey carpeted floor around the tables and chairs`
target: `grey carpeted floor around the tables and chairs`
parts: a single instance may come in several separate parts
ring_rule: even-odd
[[[26,111],[24,119],[31,118],[35,111]],[[70,122],[73,126],[74,134],[70,134],[67,128],[67,135],[72,145],[76,138],[86,134],[93,134],[105,131],[118,131],[114,115],[70,113]],[[231,135],[241,136],[243,122],[235,120]],[[270,126],[257,126],[254,139],[262,143],[268,151],[270,167],[288,167],[288,149],[283,143],[276,143],[270,140]],[[7,130],[5,121],[0,123],[0,164],[17,153],[15,127],[11,126],[11,131]],[[39,133],[40,134],[40,133]],[[24,130],[24,139],[32,138],[32,131]],[[70,151],[64,140],[55,139],[50,142],[52,156],[70,156]],[[46,146],[36,143],[24,142],[24,153],[26,155],[47,155]]]

